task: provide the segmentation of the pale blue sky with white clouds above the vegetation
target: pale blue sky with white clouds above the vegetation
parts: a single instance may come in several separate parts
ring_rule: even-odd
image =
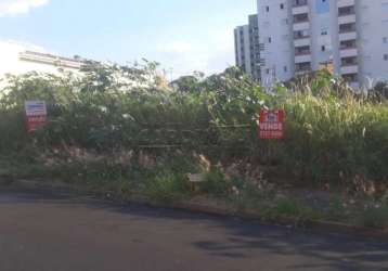
[[[234,64],[233,28],[255,10],[255,0],[0,0],[0,41],[211,74]]]

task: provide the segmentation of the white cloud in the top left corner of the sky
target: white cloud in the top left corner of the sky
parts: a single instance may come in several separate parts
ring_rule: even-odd
[[[28,13],[30,9],[48,2],[49,0],[0,0],[0,16]]]

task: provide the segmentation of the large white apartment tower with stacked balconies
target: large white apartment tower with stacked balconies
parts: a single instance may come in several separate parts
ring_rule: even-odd
[[[352,86],[388,80],[388,0],[258,0],[261,80],[333,64]]]

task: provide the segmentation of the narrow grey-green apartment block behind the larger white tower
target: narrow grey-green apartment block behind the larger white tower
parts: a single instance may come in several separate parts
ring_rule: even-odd
[[[256,80],[261,76],[259,43],[258,15],[249,15],[247,25],[234,29],[235,62]]]

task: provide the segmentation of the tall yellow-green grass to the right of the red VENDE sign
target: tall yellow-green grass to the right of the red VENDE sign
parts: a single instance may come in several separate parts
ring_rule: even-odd
[[[388,106],[351,95],[297,93],[282,105],[287,137],[281,155],[290,168],[314,179],[388,176]]]

